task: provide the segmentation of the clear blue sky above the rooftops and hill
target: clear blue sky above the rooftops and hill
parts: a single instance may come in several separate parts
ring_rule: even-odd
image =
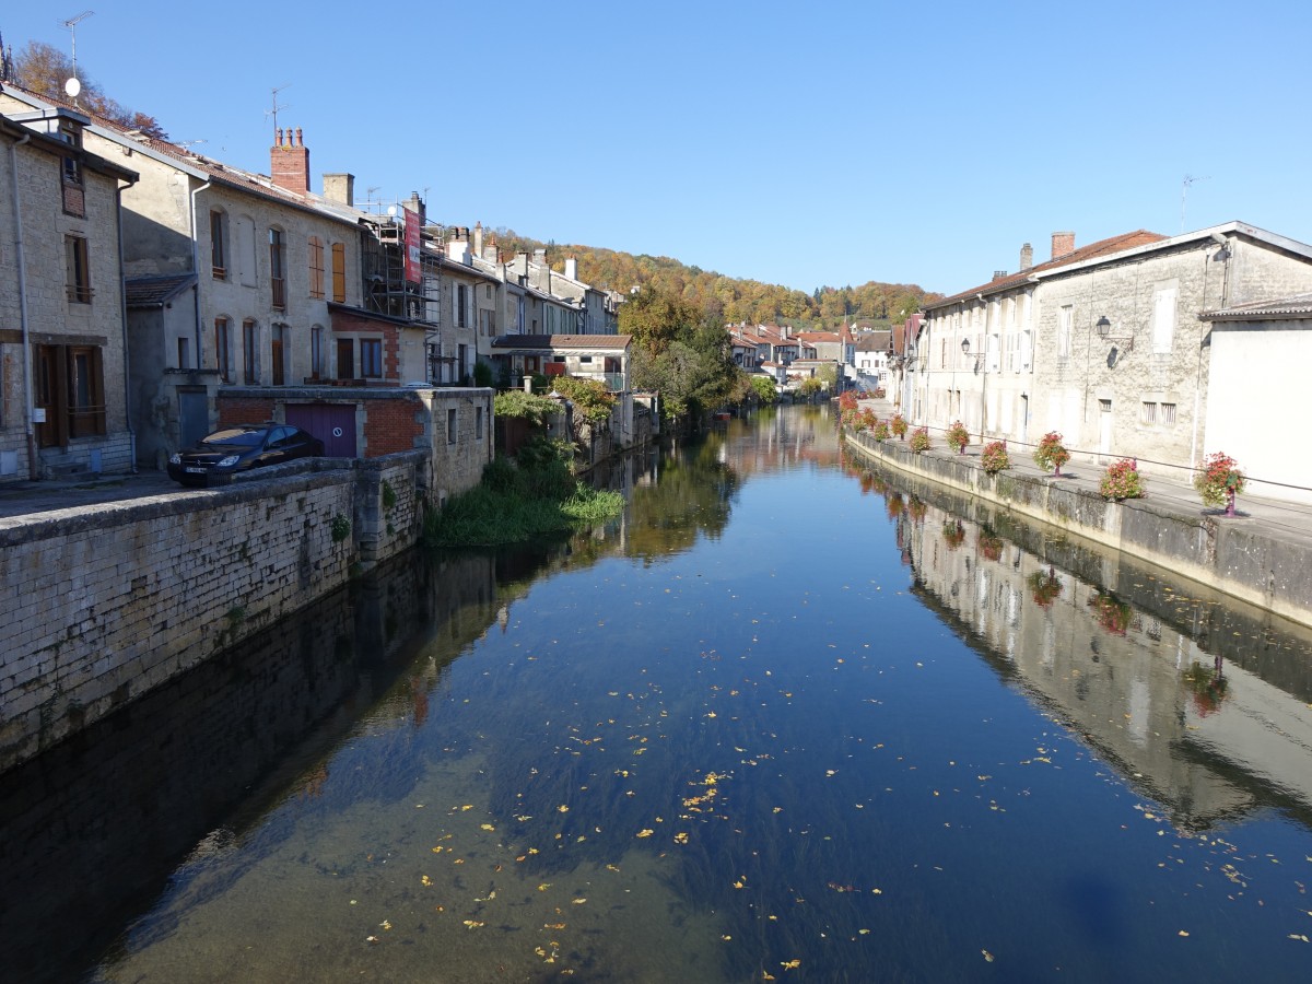
[[[319,174],[440,222],[811,291],[955,293],[1149,228],[1308,243],[1307,0],[7,4],[178,142],[269,169],[278,93]]]

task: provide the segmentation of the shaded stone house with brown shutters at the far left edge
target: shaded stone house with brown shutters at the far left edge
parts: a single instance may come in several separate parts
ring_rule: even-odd
[[[89,118],[0,92],[0,483],[125,472],[119,194],[136,181],[87,146]]]

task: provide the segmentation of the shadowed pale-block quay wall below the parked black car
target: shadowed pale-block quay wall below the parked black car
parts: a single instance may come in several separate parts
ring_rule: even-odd
[[[424,451],[0,526],[0,771],[413,546]]]

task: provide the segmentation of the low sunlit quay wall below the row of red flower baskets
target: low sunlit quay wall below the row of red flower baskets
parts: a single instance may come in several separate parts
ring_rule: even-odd
[[[1152,499],[1110,502],[1096,491],[1047,478],[989,475],[977,459],[917,455],[900,441],[848,434],[848,446],[882,464],[921,475],[1063,531],[1120,550],[1200,584],[1312,626],[1312,542],[1270,527],[1186,513]]]

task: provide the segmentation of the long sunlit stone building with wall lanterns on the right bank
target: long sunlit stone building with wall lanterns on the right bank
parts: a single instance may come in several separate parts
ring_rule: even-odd
[[[1051,260],[1031,256],[1026,245],[1019,273],[925,306],[908,352],[912,419],[1022,446],[1056,430],[1075,461],[1134,457],[1174,478],[1211,445],[1199,315],[1312,289],[1312,247],[1239,222],[1078,249],[1061,232]]]

